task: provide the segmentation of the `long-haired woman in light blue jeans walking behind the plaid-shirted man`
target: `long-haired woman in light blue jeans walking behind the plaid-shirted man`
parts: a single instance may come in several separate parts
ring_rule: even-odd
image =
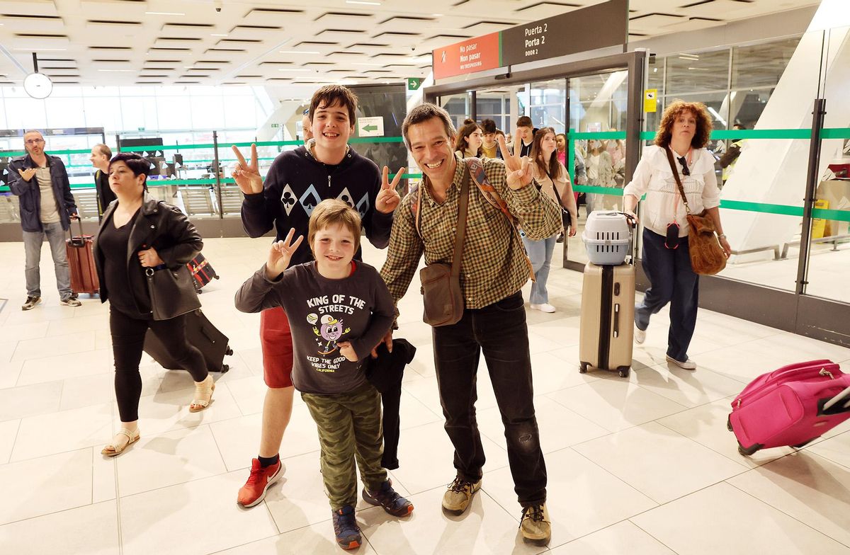
[[[564,233],[569,231],[570,237],[572,237],[575,235],[578,211],[575,208],[575,196],[570,184],[570,173],[567,173],[567,168],[558,161],[558,155],[555,154],[557,150],[555,130],[552,127],[539,129],[531,143],[531,175],[540,185],[541,192],[544,195],[549,196],[558,203],[558,206],[565,207],[570,212],[572,224],[568,225],[567,222],[564,222]],[[525,252],[528,252],[535,275],[535,281],[531,283],[529,303],[532,309],[543,312],[555,311],[555,307],[549,304],[546,281],[549,277],[557,238],[558,234],[555,234],[541,241],[531,241],[523,236]]]

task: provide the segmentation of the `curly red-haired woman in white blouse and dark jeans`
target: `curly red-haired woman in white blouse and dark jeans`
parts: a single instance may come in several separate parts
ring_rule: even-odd
[[[667,360],[685,370],[696,370],[688,358],[699,304],[699,279],[691,269],[688,220],[682,196],[673,177],[666,150],[677,160],[691,212],[706,209],[714,221],[720,244],[728,257],[732,249],[720,223],[720,190],[714,173],[714,156],[706,150],[711,116],[701,102],[676,100],[661,116],[655,144],[643,150],[631,183],[623,191],[623,209],[635,216],[638,199],[643,204],[643,271],[649,289],[635,309],[635,342],[643,343],[649,317],[670,303]],[[637,219],[637,216],[635,216]]]

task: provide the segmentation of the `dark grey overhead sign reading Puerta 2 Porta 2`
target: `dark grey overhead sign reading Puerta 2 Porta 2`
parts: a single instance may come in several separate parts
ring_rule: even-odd
[[[611,0],[501,31],[502,65],[626,43],[628,2]]]

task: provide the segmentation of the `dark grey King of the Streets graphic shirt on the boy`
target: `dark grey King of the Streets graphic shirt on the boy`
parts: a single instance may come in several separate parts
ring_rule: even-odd
[[[260,312],[283,307],[292,329],[292,383],[308,394],[342,394],[365,383],[362,365],[394,320],[393,297],[377,270],[358,262],[343,280],[319,274],[315,262],[266,279],[265,265],[236,292],[236,308]],[[358,362],[339,352],[351,342]]]

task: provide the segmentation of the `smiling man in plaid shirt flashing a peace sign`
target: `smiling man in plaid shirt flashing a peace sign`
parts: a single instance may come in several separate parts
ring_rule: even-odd
[[[425,178],[418,207],[422,236],[416,231],[412,210],[416,195],[407,195],[395,212],[387,262],[381,270],[396,303],[407,292],[422,252],[428,264],[451,263],[458,197],[467,171],[462,157],[452,149],[455,128],[439,106],[417,106],[408,113],[401,129]],[[519,148],[511,156],[504,138],[499,139],[499,146],[505,161],[481,161],[490,185],[530,239],[558,233],[560,209],[538,192],[528,159],[520,158]],[[463,317],[454,325],[433,328],[439,398],[445,431],[455,447],[457,470],[443,496],[443,508],[462,514],[481,487],[484,450],[474,404],[475,374],[483,351],[505,423],[514,490],[523,507],[520,529],[524,541],[546,545],[551,535],[546,511],[546,463],[535,417],[528,326],[520,292],[528,279],[529,265],[517,229],[473,185],[461,259],[461,288],[466,300]]]

